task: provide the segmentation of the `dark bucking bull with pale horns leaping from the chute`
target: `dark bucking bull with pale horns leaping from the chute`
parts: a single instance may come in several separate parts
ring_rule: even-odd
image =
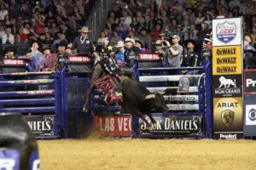
[[[84,112],[88,111],[88,104],[90,95],[96,88],[95,81],[102,77],[103,70],[101,65],[96,65],[95,71],[90,80],[90,89],[87,92],[85,103],[84,103]],[[153,116],[151,115],[152,111],[168,111],[169,108],[165,103],[165,99],[159,93],[150,93],[147,88],[143,86],[140,82],[135,82],[131,78],[125,77],[121,82],[123,89],[123,103],[121,104],[122,112],[129,113],[131,115],[139,116],[147,123],[150,124],[145,119],[144,115],[148,115],[151,122],[154,124]]]

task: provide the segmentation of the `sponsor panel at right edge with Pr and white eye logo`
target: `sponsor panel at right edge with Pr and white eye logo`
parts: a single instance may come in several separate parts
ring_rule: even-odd
[[[244,136],[256,136],[256,70],[244,71]]]

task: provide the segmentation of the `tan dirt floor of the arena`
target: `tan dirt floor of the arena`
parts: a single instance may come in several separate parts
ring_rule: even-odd
[[[256,140],[38,140],[42,170],[256,169]]]

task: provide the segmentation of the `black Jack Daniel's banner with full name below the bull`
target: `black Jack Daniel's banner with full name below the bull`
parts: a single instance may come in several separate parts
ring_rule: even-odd
[[[146,116],[148,122],[150,119]],[[146,123],[139,119],[140,133],[172,133],[172,134],[201,134],[201,116],[154,116],[156,125],[148,129]]]

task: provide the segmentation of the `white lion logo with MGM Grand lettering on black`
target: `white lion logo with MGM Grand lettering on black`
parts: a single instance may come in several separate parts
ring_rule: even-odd
[[[219,77],[219,86],[214,90],[215,94],[241,94],[241,89],[236,88],[236,79],[229,79],[225,77]]]

